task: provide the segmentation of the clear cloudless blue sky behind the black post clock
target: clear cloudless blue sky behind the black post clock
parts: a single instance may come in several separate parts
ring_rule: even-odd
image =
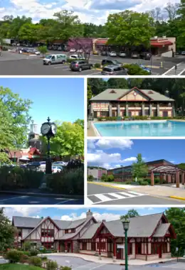
[[[38,131],[48,117],[51,121],[84,119],[83,78],[0,78],[0,85],[33,101],[30,114]]]

